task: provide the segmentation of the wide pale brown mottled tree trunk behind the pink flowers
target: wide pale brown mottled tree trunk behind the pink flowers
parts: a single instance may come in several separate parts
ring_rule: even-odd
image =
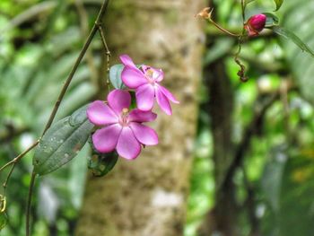
[[[153,127],[160,144],[138,159],[120,159],[105,178],[90,177],[78,236],[182,235],[197,119],[202,29],[194,18],[203,0],[115,0],[105,19],[112,58],[160,67],[162,82],[179,99]]]

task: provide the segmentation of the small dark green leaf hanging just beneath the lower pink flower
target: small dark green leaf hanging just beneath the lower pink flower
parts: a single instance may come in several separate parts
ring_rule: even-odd
[[[88,162],[88,168],[96,177],[102,177],[109,173],[118,162],[117,153],[92,153],[92,158]]]

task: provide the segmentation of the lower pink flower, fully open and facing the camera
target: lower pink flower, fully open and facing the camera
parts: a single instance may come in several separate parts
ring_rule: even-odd
[[[141,153],[141,144],[158,144],[158,135],[143,122],[153,121],[152,111],[128,110],[131,105],[129,92],[114,90],[104,101],[93,101],[87,109],[87,117],[96,126],[104,126],[92,135],[92,143],[100,153],[117,150],[121,157],[135,159]]]

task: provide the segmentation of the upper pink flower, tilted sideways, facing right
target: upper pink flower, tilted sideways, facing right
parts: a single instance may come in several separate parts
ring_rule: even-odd
[[[122,55],[120,60],[125,65],[121,74],[122,81],[130,89],[135,89],[137,108],[141,110],[153,109],[154,98],[156,98],[161,109],[167,115],[171,115],[170,101],[174,103],[179,103],[179,101],[161,86],[162,70],[151,66],[141,66],[139,69],[127,55]]]

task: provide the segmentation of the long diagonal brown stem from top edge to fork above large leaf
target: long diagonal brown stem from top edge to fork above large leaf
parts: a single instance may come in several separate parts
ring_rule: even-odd
[[[57,110],[60,107],[61,101],[65,97],[65,92],[67,91],[70,83],[72,82],[74,74],[75,74],[78,66],[80,66],[80,64],[81,64],[81,62],[83,60],[83,57],[86,54],[87,49],[90,47],[90,45],[92,43],[92,39],[94,38],[94,36],[95,36],[95,34],[96,34],[96,32],[97,32],[97,30],[99,28],[98,26],[100,25],[101,19],[102,19],[103,15],[107,11],[108,4],[109,4],[109,0],[105,0],[103,2],[103,4],[101,5],[100,13],[98,14],[96,22],[94,23],[94,25],[92,27],[92,31],[90,32],[88,38],[86,39],[86,41],[85,41],[85,43],[83,45],[83,48],[82,48],[82,50],[80,52],[80,55],[77,57],[77,59],[76,59],[76,61],[74,63],[74,66],[72,67],[72,70],[71,70],[70,74],[66,78],[65,85],[63,86],[63,88],[62,88],[62,90],[61,90],[61,92],[60,92],[60,94],[59,94],[59,96],[57,98],[57,101],[55,103],[54,109],[52,110],[52,112],[50,114],[50,117],[48,119],[48,123],[47,123],[46,127],[44,128],[44,131],[43,131],[42,135],[46,134],[48,128],[51,127],[52,122],[56,118]]]

